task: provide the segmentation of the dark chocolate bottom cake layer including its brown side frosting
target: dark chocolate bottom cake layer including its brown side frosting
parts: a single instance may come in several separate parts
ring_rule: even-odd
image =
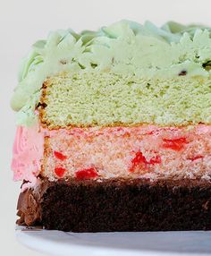
[[[72,232],[211,229],[211,183],[44,181],[21,193],[19,224]]]

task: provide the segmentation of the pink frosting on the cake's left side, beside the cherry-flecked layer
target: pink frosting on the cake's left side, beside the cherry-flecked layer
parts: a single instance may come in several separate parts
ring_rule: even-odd
[[[15,181],[28,181],[29,185],[38,182],[44,151],[44,132],[38,125],[17,128],[13,144],[12,170]]]

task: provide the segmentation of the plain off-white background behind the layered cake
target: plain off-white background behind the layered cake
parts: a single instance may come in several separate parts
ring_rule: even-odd
[[[122,19],[211,25],[210,13],[210,0],[0,0],[0,255],[38,255],[14,238],[21,183],[13,183],[10,170],[15,125],[9,102],[20,58],[30,45],[49,30],[95,30]]]

